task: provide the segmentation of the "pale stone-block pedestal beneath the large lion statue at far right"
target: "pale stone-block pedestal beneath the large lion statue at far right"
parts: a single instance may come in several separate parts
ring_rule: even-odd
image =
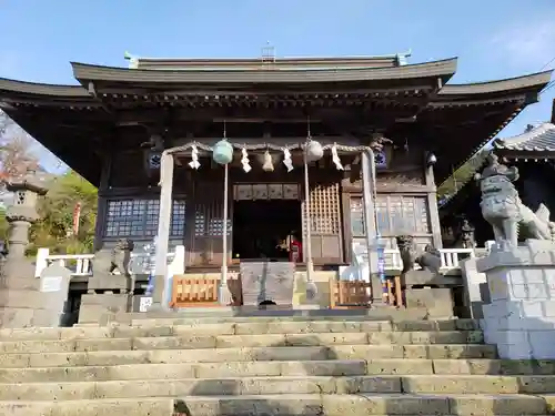
[[[555,358],[555,244],[528,240],[480,258],[476,268],[491,300],[483,307],[486,342],[502,358]]]

